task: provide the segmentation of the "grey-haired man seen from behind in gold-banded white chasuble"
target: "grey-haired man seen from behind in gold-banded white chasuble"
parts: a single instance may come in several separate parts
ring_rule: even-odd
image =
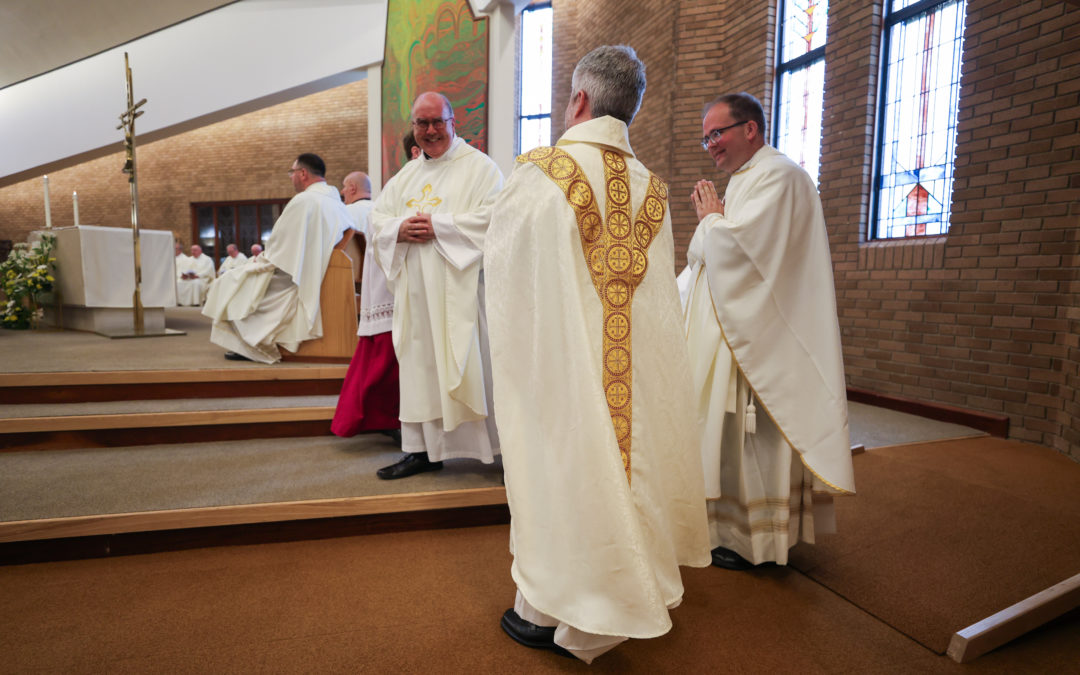
[[[680,565],[707,566],[667,188],[627,124],[645,65],[585,55],[567,132],[500,194],[487,310],[517,594],[503,630],[584,661],[663,635]]]

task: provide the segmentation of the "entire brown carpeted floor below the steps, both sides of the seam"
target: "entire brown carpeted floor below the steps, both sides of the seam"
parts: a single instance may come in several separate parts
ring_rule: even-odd
[[[592,669],[502,634],[509,528],[490,526],[0,567],[0,673],[1076,672],[1080,612],[973,664],[935,651],[1075,572],[1080,467],[983,438],[855,472],[840,534],[792,567],[686,570],[672,632]]]

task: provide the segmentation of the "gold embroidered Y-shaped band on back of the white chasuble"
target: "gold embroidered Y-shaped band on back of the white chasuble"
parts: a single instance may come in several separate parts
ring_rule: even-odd
[[[604,306],[604,393],[629,483],[633,422],[631,307],[634,291],[649,267],[649,244],[663,226],[667,186],[650,173],[645,201],[631,221],[626,160],[618,152],[604,150],[607,217],[602,219],[589,178],[565,150],[536,148],[518,157],[517,162],[531,162],[543,171],[563,190],[578,217],[585,266]]]

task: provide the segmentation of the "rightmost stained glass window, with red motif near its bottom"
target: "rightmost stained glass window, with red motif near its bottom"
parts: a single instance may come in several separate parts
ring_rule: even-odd
[[[966,4],[890,1],[875,176],[878,239],[948,231]]]

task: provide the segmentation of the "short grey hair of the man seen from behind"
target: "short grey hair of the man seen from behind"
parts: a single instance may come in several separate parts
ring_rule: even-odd
[[[571,96],[577,92],[588,94],[594,118],[610,114],[629,126],[645,95],[645,64],[632,46],[598,46],[573,69]]]

